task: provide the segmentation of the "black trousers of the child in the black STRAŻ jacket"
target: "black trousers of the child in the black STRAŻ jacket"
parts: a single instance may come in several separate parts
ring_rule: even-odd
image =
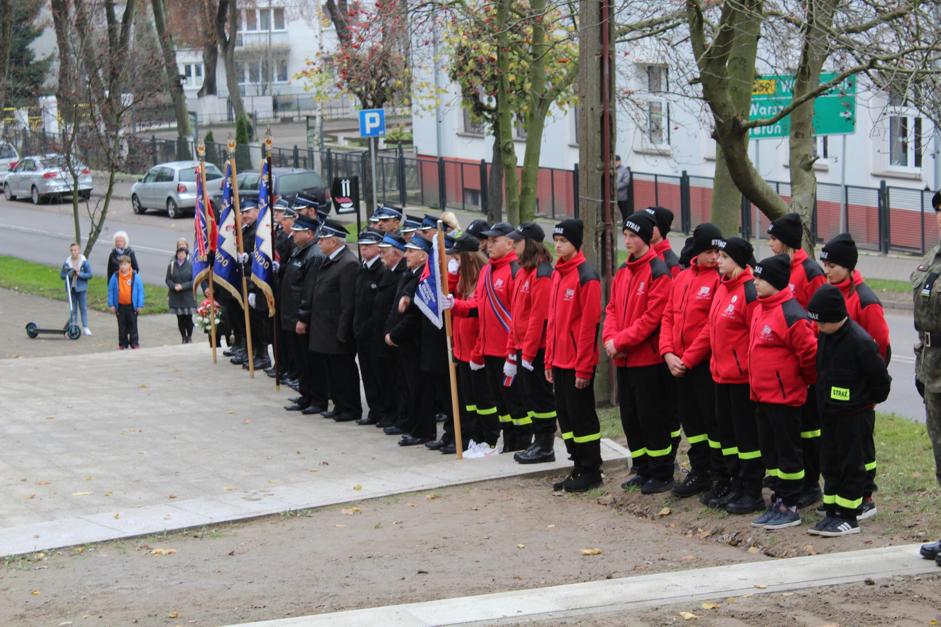
[[[823,505],[828,516],[854,520],[863,511],[869,407],[855,414],[821,415]]]

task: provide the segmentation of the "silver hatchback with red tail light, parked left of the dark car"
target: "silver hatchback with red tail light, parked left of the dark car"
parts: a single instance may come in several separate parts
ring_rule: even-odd
[[[198,167],[198,161],[154,165],[143,179],[131,186],[134,212],[140,214],[148,209],[166,209],[169,217],[180,218],[183,210],[195,210]],[[220,189],[222,172],[215,165],[206,164],[206,195]]]

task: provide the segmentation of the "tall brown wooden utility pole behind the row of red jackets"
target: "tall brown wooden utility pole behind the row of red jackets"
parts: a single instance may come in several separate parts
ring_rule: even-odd
[[[611,0],[582,0],[579,25],[582,252],[601,275],[601,300],[602,305],[606,305],[617,266],[614,238],[620,232],[620,228],[614,226],[617,196],[614,195],[614,11]],[[595,395],[598,400],[614,402],[614,365],[603,350],[601,353]]]

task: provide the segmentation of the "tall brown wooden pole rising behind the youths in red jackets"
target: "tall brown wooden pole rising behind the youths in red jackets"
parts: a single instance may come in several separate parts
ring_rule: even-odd
[[[614,238],[605,234],[604,215],[611,208],[604,207],[598,199],[604,197],[602,175],[607,163],[614,166],[614,106],[611,107],[610,128],[604,128],[604,66],[605,58],[601,43],[602,12],[601,3],[606,0],[583,0],[579,9],[579,24],[591,24],[582,27],[579,33],[579,215],[584,222],[584,240],[582,253],[585,259],[595,266],[601,275],[601,303],[610,298],[609,286],[614,275],[614,268],[605,262],[606,252],[616,259]],[[614,29],[612,29],[614,30]],[[614,43],[611,44],[607,59],[608,67],[614,68]],[[614,102],[614,77],[609,84],[607,94]],[[605,155],[604,134],[610,133],[609,154]],[[608,178],[608,198],[614,199],[614,176]],[[603,314],[602,314],[603,315]],[[603,323],[603,318],[602,318]],[[614,400],[612,385],[612,362],[602,354],[595,376],[595,394],[598,400]]]

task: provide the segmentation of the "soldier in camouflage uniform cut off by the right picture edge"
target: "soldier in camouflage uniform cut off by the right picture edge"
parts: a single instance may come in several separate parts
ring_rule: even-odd
[[[932,198],[941,233],[941,192]],[[941,246],[934,246],[912,273],[915,291],[915,385],[925,400],[925,423],[934,450],[934,472],[941,485]],[[921,556],[941,566],[941,541],[921,546]]]

